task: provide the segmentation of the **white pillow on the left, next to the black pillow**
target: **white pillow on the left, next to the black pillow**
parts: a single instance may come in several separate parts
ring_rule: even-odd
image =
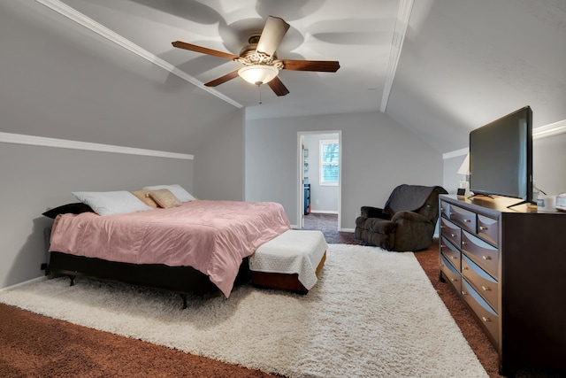
[[[126,190],[118,191],[74,191],[74,197],[88,204],[99,215],[124,214],[153,210]]]

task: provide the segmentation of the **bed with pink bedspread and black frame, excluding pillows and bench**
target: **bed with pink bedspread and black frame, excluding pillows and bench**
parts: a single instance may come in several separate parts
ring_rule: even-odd
[[[80,205],[80,204],[77,204]],[[249,282],[248,258],[290,228],[281,204],[192,200],[171,208],[101,216],[81,208],[55,217],[50,274],[229,297]]]

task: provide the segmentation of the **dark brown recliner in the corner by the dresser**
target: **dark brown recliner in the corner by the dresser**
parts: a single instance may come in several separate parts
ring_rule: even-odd
[[[432,244],[439,218],[440,187],[402,184],[383,209],[362,206],[356,219],[356,239],[387,251],[419,251]]]

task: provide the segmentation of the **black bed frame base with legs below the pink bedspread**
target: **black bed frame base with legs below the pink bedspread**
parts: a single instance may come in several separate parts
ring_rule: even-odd
[[[51,251],[47,274],[52,277],[67,275],[71,279],[85,276],[102,281],[121,282],[152,289],[164,289],[179,293],[183,309],[187,308],[187,294],[199,296],[219,292],[209,277],[191,266],[166,266],[163,264],[129,264],[101,258],[86,258],[68,253]],[[242,260],[235,285],[249,283],[251,272],[249,258]]]

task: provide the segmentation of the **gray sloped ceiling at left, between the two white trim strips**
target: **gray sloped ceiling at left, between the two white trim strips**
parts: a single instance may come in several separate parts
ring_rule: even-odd
[[[34,1],[0,1],[0,83],[0,134],[192,154],[226,118],[242,121],[233,104]]]

